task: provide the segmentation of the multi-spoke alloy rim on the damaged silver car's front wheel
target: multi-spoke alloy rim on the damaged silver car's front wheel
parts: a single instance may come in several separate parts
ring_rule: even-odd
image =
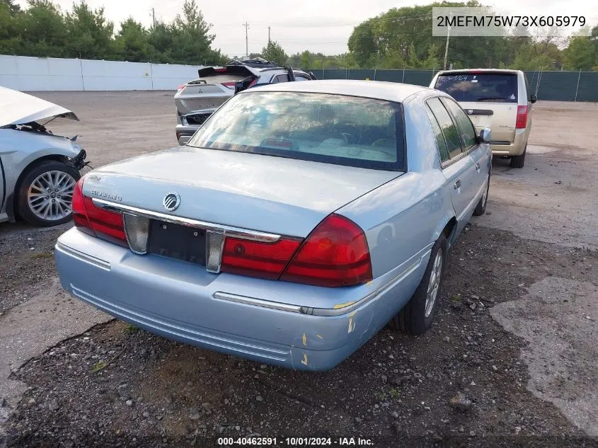
[[[29,209],[45,221],[58,221],[71,214],[71,202],[76,180],[64,171],[40,174],[27,192]]]

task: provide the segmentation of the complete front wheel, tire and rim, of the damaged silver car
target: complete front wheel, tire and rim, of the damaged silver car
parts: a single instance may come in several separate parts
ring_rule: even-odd
[[[35,163],[27,168],[18,185],[16,191],[18,214],[34,226],[49,227],[69,222],[72,218],[71,201],[74,183],[79,178],[81,178],[79,171],[67,163],[57,160]],[[54,182],[56,185],[53,184]],[[55,188],[52,188],[54,186]],[[48,190],[42,190],[48,187],[50,187]],[[42,197],[43,193],[49,194]]]

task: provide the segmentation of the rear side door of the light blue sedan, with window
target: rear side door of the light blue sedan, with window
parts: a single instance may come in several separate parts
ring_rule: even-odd
[[[460,130],[456,127],[451,115],[440,98],[430,98],[426,101],[426,112],[430,115],[434,130],[442,173],[447,178],[453,207],[457,217],[457,233],[468,222],[468,211],[471,205],[471,185],[476,168],[471,158],[463,151]]]

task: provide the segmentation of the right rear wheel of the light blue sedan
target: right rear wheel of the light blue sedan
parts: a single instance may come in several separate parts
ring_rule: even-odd
[[[438,258],[439,263],[441,263],[439,267],[435,266]],[[432,326],[432,321],[434,321],[439,307],[439,289],[446,266],[447,239],[444,235],[441,235],[439,239],[437,239],[434,246],[432,246],[430,260],[427,262],[427,267],[418,289],[415,289],[411,299],[407,302],[403,309],[392,318],[390,322],[391,328],[412,335],[422,335]],[[427,291],[428,287],[430,286],[430,282],[433,280],[432,271],[436,272],[434,278],[437,278],[438,281],[435,288],[435,297],[433,298],[430,309],[427,310]]]

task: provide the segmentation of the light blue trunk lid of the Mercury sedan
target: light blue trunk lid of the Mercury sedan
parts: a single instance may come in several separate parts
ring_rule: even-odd
[[[202,222],[304,238],[336,209],[400,176],[331,163],[183,147],[112,163],[84,195]],[[168,193],[180,197],[172,212]]]

